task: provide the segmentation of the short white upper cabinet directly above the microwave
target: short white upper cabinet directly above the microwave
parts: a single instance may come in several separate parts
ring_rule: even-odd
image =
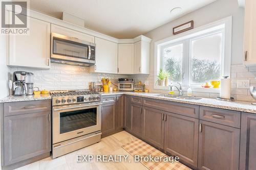
[[[84,33],[71,30],[65,27],[60,27],[54,24],[52,24],[51,32],[94,43],[94,36],[92,35],[84,34]]]

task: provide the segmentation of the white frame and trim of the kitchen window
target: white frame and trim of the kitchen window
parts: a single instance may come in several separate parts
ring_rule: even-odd
[[[222,31],[223,30],[223,31]],[[184,72],[188,72],[188,74],[184,74],[183,86],[184,89],[187,89],[188,84],[190,82],[190,54],[191,54],[191,40],[196,38],[205,37],[209,34],[216,34],[217,32],[222,32],[222,60],[221,60],[221,76],[230,76],[230,68],[231,68],[231,38],[232,38],[232,16],[217,20],[215,22],[208,23],[207,25],[198,27],[193,30],[189,30],[187,32],[183,32],[181,34],[177,34],[163,40],[155,42],[155,64],[154,64],[154,82],[157,81],[157,74],[159,69],[161,68],[161,48],[170,44],[180,44],[183,43],[183,58],[182,58],[182,68]],[[189,49],[187,49],[189,48]],[[183,62],[188,60],[186,62]],[[159,63],[161,62],[161,64]],[[163,89],[167,90],[168,87],[158,86],[154,83],[154,89]],[[219,89],[209,88],[205,89],[200,86],[193,86],[193,91],[199,92],[219,92]]]

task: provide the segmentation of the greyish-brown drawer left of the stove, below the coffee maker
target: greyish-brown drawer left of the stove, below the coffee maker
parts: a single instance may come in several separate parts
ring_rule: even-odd
[[[51,110],[51,100],[12,102],[4,104],[5,116],[44,112]]]

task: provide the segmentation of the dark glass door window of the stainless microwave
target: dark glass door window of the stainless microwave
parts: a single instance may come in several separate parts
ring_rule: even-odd
[[[88,45],[53,37],[53,54],[88,59]]]

